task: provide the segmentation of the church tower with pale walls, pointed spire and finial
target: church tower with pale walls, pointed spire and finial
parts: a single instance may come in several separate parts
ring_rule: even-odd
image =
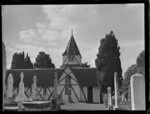
[[[73,30],[71,30],[71,38],[62,56],[63,56],[62,66],[65,66],[66,64],[69,64],[71,66],[81,66],[82,64],[81,63],[82,56],[74,40]]]

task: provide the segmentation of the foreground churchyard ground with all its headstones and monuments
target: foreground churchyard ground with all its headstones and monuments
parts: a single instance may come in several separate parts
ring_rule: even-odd
[[[57,75],[55,76],[57,79]],[[145,110],[145,80],[141,74],[134,74],[130,80],[131,98],[124,99],[118,92],[117,73],[114,74],[115,94],[111,95],[111,88],[105,95],[104,104],[92,103],[61,103],[61,97],[57,94],[57,81],[55,80],[55,97],[52,100],[39,100],[36,98],[36,76],[33,77],[32,94],[28,98],[25,95],[23,83],[24,74],[20,74],[19,91],[13,95],[13,77],[9,74],[7,80],[6,96],[4,98],[5,111],[52,111],[52,110]]]

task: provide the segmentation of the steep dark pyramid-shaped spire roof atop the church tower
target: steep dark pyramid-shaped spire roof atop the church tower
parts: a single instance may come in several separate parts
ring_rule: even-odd
[[[81,56],[79,49],[77,47],[77,44],[74,40],[73,33],[72,33],[71,38],[67,44],[65,52],[62,55],[80,55]]]

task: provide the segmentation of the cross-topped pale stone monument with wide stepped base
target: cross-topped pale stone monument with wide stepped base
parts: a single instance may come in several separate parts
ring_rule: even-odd
[[[24,83],[23,83],[24,75],[23,75],[22,72],[21,72],[20,78],[21,78],[21,80],[20,80],[20,83],[19,83],[19,92],[18,92],[17,97],[15,98],[16,102],[23,102],[23,101],[28,100],[25,93],[24,93]]]

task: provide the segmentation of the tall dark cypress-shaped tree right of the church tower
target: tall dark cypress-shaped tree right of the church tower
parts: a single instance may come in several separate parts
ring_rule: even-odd
[[[114,73],[118,74],[119,87],[122,82],[122,68],[120,61],[120,47],[113,31],[101,39],[99,52],[95,60],[97,68],[97,81],[100,86],[100,99],[102,101],[103,93],[107,92],[107,87],[114,90]]]

